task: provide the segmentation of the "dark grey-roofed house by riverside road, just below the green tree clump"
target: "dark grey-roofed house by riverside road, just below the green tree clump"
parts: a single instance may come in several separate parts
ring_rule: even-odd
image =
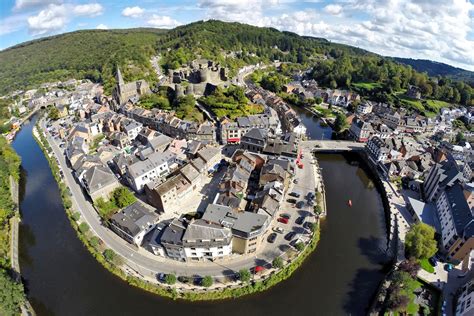
[[[157,222],[158,215],[153,209],[143,202],[136,201],[112,215],[110,228],[129,243],[140,246],[143,237],[156,226]]]

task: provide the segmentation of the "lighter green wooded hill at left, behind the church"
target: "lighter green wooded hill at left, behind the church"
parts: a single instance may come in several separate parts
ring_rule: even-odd
[[[0,52],[0,94],[41,82],[89,78],[113,84],[115,65],[125,76],[152,80],[149,58],[162,30],[86,30],[26,42]]]

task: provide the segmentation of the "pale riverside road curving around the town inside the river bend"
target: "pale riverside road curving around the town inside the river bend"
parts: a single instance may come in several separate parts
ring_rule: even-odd
[[[46,131],[44,120],[41,121],[41,126]],[[210,275],[215,278],[228,276],[229,270],[239,271],[240,269],[250,269],[256,265],[262,265],[270,263],[277,256],[282,255],[285,250],[284,247],[278,243],[270,244],[265,240],[260,246],[257,255],[233,255],[228,259],[219,260],[216,262],[199,262],[199,263],[182,263],[171,260],[169,258],[163,258],[155,256],[149,251],[143,248],[136,248],[128,244],[125,240],[118,237],[113,231],[101,224],[101,220],[96,210],[93,208],[91,203],[85,198],[84,193],[80,185],[76,182],[72,175],[71,169],[67,167],[66,158],[63,155],[63,150],[59,148],[58,142],[55,141],[49,133],[46,133],[47,140],[53,149],[53,152],[58,160],[58,165],[64,173],[64,182],[67,187],[70,188],[72,193],[73,208],[78,210],[81,214],[82,220],[87,222],[91,228],[91,231],[99,236],[104,244],[114,250],[123,259],[126,265],[132,270],[135,270],[144,278],[156,281],[157,273],[173,273],[176,275]],[[311,155],[306,155],[305,159],[310,159]],[[309,166],[309,160],[307,160],[307,166]],[[310,169],[311,170],[311,169]],[[314,189],[314,184],[311,184],[311,178],[314,183],[314,175],[312,172],[306,172],[307,170],[298,170],[297,176],[304,177],[305,180],[301,180],[299,188],[302,192],[306,190]],[[276,219],[273,221],[275,224]],[[287,225],[290,226],[290,225]],[[267,234],[270,232],[267,232]],[[279,238],[282,241],[283,238]]]

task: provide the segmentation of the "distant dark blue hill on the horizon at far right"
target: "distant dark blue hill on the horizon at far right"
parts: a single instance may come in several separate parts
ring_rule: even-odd
[[[450,77],[455,80],[467,81],[474,84],[474,72],[472,71],[426,59],[395,57],[394,60],[405,65],[410,65],[416,71],[426,72],[430,76]]]

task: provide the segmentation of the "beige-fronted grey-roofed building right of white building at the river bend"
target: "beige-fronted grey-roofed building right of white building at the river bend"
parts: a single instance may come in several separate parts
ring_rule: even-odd
[[[270,224],[266,214],[233,212],[228,206],[209,204],[202,220],[228,227],[232,231],[232,251],[251,254],[257,251]]]

